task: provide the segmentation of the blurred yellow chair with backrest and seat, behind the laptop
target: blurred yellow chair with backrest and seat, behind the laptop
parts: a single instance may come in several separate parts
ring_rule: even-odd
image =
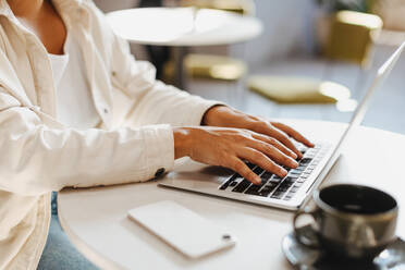
[[[328,59],[321,79],[303,77],[253,76],[248,87],[277,102],[328,103],[349,102],[347,87],[327,81],[333,61],[345,61],[366,69],[371,62],[373,40],[381,29],[382,22],[377,15],[353,11],[340,11],[331,19],[331,28],[323,56]],[[360,87],[357,76],[356,88]],[[343,108],[343,107],[341,107]],[[349,107],[353,110],[353,106]]]

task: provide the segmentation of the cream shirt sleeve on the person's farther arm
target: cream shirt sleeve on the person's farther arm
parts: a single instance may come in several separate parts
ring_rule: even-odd
[[[157,81],[155,66],[146,61],[136,61],[128,44],[116,36],[111,65],[113,84],[135,102],[128,114],[130,122],[135,125],[199,125],[209,108],[222,105]]]

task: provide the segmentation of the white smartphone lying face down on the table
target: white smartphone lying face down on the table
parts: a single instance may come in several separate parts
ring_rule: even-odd
[[[225,229],[174,202],[158,201],[134,208],[128,218],[188,258],[200,258],[235,245]]]

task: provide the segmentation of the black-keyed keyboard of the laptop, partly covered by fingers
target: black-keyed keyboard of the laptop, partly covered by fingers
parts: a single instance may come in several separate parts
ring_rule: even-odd
[[[300,146],[298,149],[304,154],[304,156],[297,161],[298,167],[296,169],[283,167],[289,172],[284,179],[265,171],[258,165],[247,162],[246,164],[261,177],[261,183],[259,185],[255,185],[235,173],[221,184],[219,189],[273,199],[291,200],[307,181],[327,151],[326,147],[320,147],[319,145],[314,148]]]

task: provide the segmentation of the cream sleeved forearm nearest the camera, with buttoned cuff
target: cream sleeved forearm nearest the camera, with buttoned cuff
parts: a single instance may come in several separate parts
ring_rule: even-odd
[[[51,128],[28,109],[0,113],[0,188],[38,195],[64,186],[147,181],[174,162],[170,125]]]

